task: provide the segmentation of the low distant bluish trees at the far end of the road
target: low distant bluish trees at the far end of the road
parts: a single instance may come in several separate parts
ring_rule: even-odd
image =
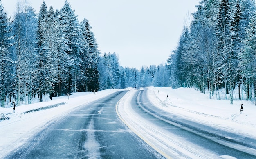
[[[170,85],[170,73],[167,63],[165,65],[142,66],[137,68],[123,67],[119,65],[117,54],[104,53],[99,60],[100,88],[113,89],[127,87],[168,87]]]

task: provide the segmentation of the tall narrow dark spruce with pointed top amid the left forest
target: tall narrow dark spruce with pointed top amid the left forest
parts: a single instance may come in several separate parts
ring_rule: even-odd
[[[43,94],[52,93],[56,81],[56,70],[54,68],[54,56],[49,48],[50,40],[47,24],[47,6],[45,2],[41,5],[38,15],[37,31],[37,55],[36,55],[36,93],[39,94],[39,102],[43,102]]]

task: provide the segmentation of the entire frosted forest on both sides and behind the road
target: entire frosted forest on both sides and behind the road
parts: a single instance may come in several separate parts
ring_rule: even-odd
[[[209,98],[256,100],[254,0],[200,0],[188,15],[165,64],[123,67],[102,53],[89,20],[77,20],[68,1],[43,2],[39,13],[17,3],[10,18],[0,0],[0,102],[31,104],[74,92],[127,87],[194,87]],[[236,92],[237,91],[237,92]],[[244,96],[245,95],[245,96]]]

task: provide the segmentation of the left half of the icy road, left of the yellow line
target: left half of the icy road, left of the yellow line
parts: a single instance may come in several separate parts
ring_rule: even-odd
[[[115,105],[126,92],[115,92],[54,119],[5,158],[162,158],[118,118]]]

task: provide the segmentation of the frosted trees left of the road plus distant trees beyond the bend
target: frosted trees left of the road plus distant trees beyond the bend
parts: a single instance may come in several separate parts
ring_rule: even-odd
[[[1,107],[13,99],[20,105],[42,102],[44,95],[169,85],[166,65],[139,71],[120,66],[115,52],[101,56],[91,29],[89,20],[77,20],[68,1],[59,10],[43,2],[38,14],[18,1],[11,18],[0,0]]]

